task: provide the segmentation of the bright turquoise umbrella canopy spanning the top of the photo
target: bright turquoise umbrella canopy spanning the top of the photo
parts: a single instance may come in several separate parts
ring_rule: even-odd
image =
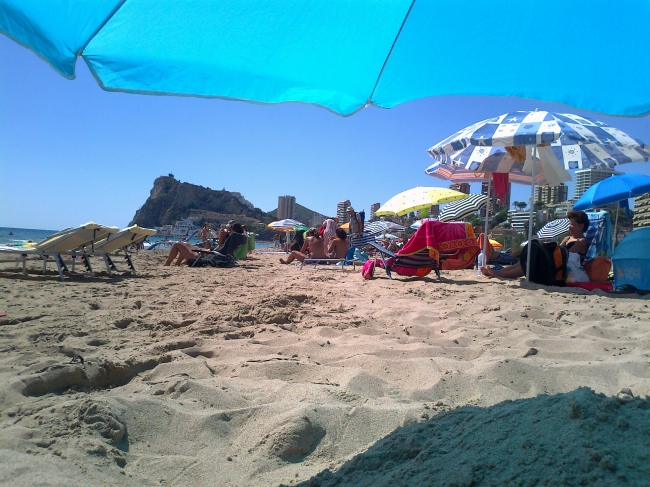
[[[643,25],[647,0],[0,0],[0,32],[67,78],[81,57],[106,90],[342,115],[450,94],[645,114]]]

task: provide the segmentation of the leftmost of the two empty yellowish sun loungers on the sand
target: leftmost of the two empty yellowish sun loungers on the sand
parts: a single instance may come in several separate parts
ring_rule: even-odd
[[[16,265],[22,263],[23,275],[27,275],[27,258],[35,257],[43,261],[43,273],[46,271],[49,259],[54,259],[59,278],[63,280],[64,275],[89,275],[94,277],[92,266],[90,265],[90,255],[94,252],[94,245],[106,239],[111,234],[117,233],[117,227],[107,227],[97,223],[88,222],[77,228],[66,228],[54,235],[37,243],[33,247],[26,249],[11,249],[3,247],[0,249],[2,260],[0,262],[15,262]],[[6,257],[9,257],[8,259]],[[64,260],[69,257],[69,260]],[[83,262],[86,271],[76,272],[75,266],[77,258]]]

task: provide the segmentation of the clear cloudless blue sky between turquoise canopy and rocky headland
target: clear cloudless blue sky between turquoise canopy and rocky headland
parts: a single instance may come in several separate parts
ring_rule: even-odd
[[[426,149],[515,110],[578,113],[650,143],[650,117],[606,117],[518,98],[428,98],[343,118],[301,104],[108,93],[82,60],[77,73],[66,80],[0,35],[0,226],[125,226],[154,179],[168,173],[239,191],[266,211],[283,194],[326,215],[346,198],[369,211],[416,185],[448,186],[424,174],[432,162]],[[650,164],[622,170],[650,174]],[[529,191],[513,185],[513,199],[527,200]]]

